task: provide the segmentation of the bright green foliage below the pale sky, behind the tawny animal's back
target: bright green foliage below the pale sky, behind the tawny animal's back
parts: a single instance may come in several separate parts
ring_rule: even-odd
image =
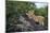
[[[48,7],[45,6],[45,7],[36,9],[35,14],[43,17],[48,17]]]

